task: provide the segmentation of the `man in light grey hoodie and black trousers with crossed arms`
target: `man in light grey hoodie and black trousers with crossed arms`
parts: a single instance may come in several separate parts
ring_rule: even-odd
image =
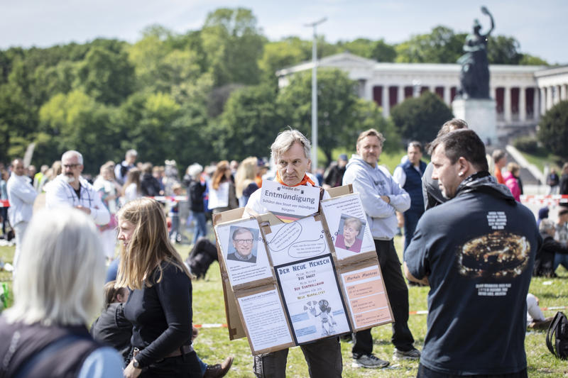
[[[383,135],[373,128],[359,135],[357,154],[347,164],[343,184],[352,184],[353,190],[359,192],[375,240],[378,262],[395,320],[391,338],[395,345],[393,357],[417,359],[420,352],[414,348],[414,338],[408,328],[408,287],[393,243],[398,224],[395,211],[406,211],[410,207],[410,196],[394,181],[388,170],[377,165],[384,140]],[[371,329],[354,334],[351,352],[355,366],[386,367],[389,363],[373,355]]]

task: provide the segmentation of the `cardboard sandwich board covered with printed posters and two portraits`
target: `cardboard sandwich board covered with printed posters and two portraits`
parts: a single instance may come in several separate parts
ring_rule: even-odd
[[[318,206],[301,189],[270,185],[275,213],[213,216],[229,338],[253,355],[393,322],[359,194],[334,188]]]

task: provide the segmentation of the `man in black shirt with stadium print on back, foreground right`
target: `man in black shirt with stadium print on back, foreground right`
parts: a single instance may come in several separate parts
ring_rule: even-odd
[[[473,130],[443,135],[431,150],[432,178],[451,201],[424,213],[405,254],[408,279],[430,284],[417,376],[527,377],[535,217],[491,177]]]

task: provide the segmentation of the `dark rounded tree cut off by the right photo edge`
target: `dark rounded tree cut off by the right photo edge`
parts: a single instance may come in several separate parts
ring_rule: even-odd
[[[568,159],[568,101],[560,101],[542,116],[537,138],[547,150]]]

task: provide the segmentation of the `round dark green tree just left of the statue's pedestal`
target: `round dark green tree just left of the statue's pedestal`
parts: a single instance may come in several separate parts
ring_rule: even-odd
[[[444,122],[453,118],[452,111],[436,94],[424,92],[406,99],[391,110],[391,117],[405,140],[429,143]]]

